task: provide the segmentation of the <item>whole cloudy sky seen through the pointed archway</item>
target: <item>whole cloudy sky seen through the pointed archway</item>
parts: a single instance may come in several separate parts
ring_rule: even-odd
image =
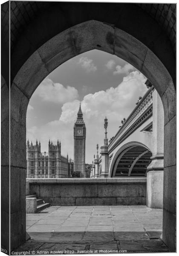
[[[26,115],[26,138],[40,140],[41,152],[48,141],[61,140],[61,153],[73,159],[73,126],[79,103],[87,129],[86,163],[92,163],[96,144],[104,143],[104,118],[110,140],[121,120],[133,111],[147,91],[146,77],[126,61],[107,52],[92,50],[56,68],[33,93]]]

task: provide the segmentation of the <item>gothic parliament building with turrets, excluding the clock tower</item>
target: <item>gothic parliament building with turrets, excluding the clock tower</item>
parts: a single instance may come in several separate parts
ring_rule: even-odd
[[[40,142],[26,145],[27,178],[69,178],[72,176],[73,163],[61,155],[61,142],[54,145],[49,140],[49,152],[41,153]]]

